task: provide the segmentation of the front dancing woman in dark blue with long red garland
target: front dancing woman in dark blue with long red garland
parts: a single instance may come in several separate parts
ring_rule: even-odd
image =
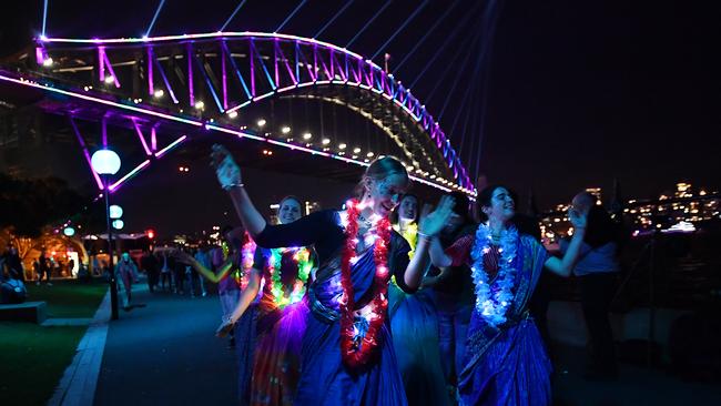
[[[443,200],[422,219],[416,255],[395,233],[388,214],[409,179],[395,158],[375,160],[345,211],[321,211],[294,223],[268,225],[257,212],[230,153],[213,146],[216,174],[243,224],[265,247],[314,244],[319,267],[308,288],[312,314],[303,337],[302,376],[295,405],[406,405],[386,309],[390,275],[418,288],[429,237],[443,229],[453,207]]]

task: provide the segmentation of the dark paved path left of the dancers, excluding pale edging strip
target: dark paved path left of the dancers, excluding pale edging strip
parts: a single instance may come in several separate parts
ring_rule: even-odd
[[[234,405],[236,366],[217,296],[191,298],[135,285],[135,307],[110,323],[95,405]]]

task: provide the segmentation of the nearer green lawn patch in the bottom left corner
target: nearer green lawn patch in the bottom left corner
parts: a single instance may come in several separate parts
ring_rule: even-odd
[[[50,400],[87,328],[0,322],[0,404]]]

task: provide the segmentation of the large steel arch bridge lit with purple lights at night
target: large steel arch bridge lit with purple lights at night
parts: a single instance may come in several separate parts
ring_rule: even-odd
[[[458,26],[473,24],[477,11]],[[457,55],[483,42],[458,33],[448,33],[445,42],[457,42]],[[455,60],[445,62],[451,68],[444,72],[451,72],[444,84],[453,85],[450,93],[459,83],[477,87],[471,82],[483,52],[474,54],[475,71],[469,55],[457,67],[450,67]],[[200,156],[207,153],[209,140],[221,136],[243,162],[260,169],[351,181],[373,159],[392,154],[416,187],[476,193],[478,173],[467,170],[453,134],[402,78],[314,38],[230,31],[54,38],[43,32],[2,61],[0,92],[3,109],[39,110],[60,122],[82,150],[99,190],[103,182],[90,164],[95,150],[122,150],[128,164],[109,185],[115,192],[166,154],[186,150]],[[469,91],[460,93],[465,102]],[[17,118],[10,122],[7,114],[4,121],[4,131],[17,138],[32,126]]]

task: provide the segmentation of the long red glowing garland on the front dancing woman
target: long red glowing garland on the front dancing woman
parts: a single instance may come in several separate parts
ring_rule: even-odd
[[[373,247],[373,260],[376,265],[376,273],[373,280],[375,295],[363,308],[354,311],[355,300],[353,283],[351,281],[351,260],[355,258],[358,244],[358,201],[346,202],[347,224],[345,227],[346,243],[343,247],[341,258],[341,284],[343,295],[341,297],[341,355],[343,362],[351,367],[364,365],[373,351],[378,345],[377,336],[383,328],[386,311],[388,308],[388,245],[390,244],[390,222],[388,219],[380,219],[375,223],[375,245]],[[356,326],[356,318],[364,321],[367,328],[365,335]]]

